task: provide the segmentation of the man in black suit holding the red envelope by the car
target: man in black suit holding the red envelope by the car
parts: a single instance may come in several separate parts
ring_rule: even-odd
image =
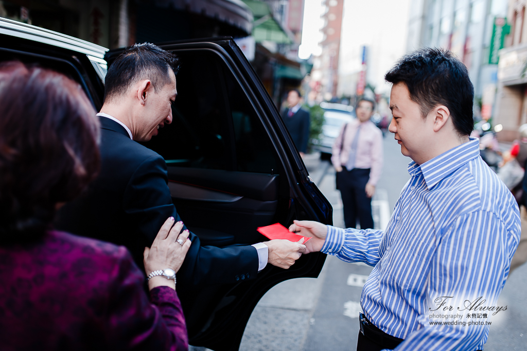
[[[116,58],[98,114],[101,172],[84,196],[61,209],[57,220],[58,229],[128,247],[140,266],[144,248],[164,221],[181,220],[164,159],[137,142],[150,140],[172,122],[174,66],[177,58],[152,44],[136,44]],[[268,262],[289,268],[305,249],[301,242],[287,240],[217,248],[200,246],[193,233],[189,238],[192,245],[177,276],[183,288],[253,279]]]

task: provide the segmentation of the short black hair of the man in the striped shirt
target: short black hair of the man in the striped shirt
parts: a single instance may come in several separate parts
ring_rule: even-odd
[[[474,86],[466,66],[441,48],[423,48],[407,54],[385,75],[387,82],[404,83],[425,118],[437,105],[450,111],[454,128],[470,135],[474,128]]]

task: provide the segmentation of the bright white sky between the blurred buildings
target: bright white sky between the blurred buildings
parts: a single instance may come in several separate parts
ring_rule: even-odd
[[[410,0],[344,0],[340,42],[339,74],[349,76],[360,70],[362,46],[368,46],[367,80],[377,93],[389,91],[384,74],[405,54]],[[321,0],[306,0],[304,27],[298,56],[319,55],[318,43],[324,25]]]

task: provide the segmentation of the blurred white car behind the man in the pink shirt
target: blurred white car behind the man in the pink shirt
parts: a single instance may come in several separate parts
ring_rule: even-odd
[[[316,149],[321,152],[322,157],[331,155],[331,148],[340,129],[345,123],[355,119],[352,106],[322,102],[320,107],[324,109],[324,125],[322,126],[323,138]]]

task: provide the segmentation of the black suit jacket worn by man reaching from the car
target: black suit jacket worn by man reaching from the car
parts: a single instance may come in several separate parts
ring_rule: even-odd
[[[144,247],[152,244],[164,221],[171,216],[182,220],[167,186],[167,165],[159,154],[131,140],[119,123],[103,116],[100,121],[101,172],[83,196],[60,210],[56,227],[124,245],[143,267]],[[196,235],[189,238],[178,292],[180,287],[236,282],[241,275],[256,277],[258,253],[252,246],[200,246]]]

